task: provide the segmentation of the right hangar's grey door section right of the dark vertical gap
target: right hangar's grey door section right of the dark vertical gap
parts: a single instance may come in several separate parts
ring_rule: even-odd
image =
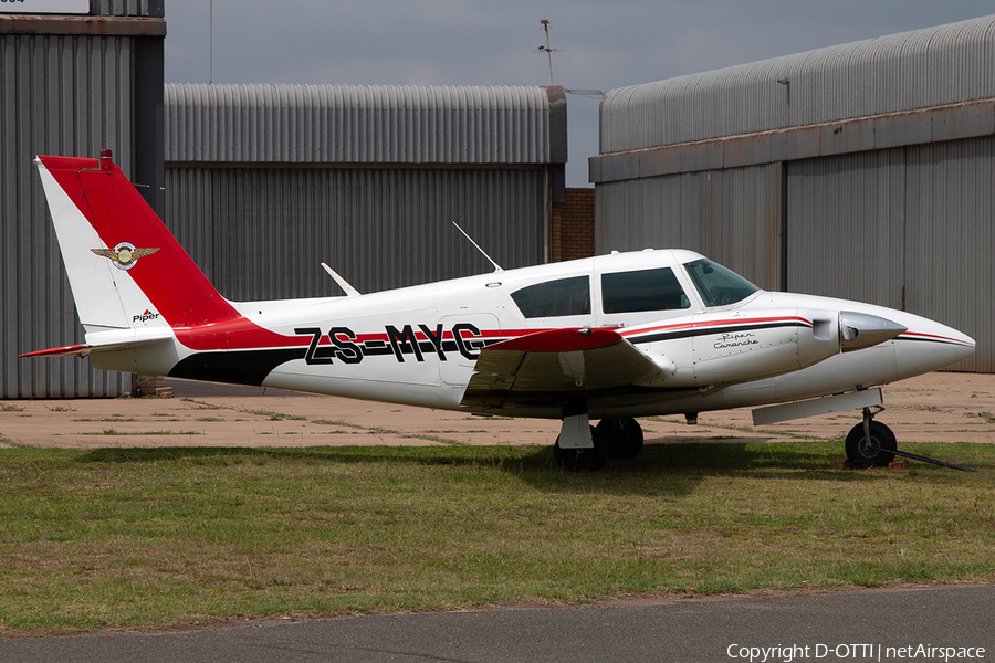
[[[995,136],[787,165],[786,283],[949,324],[995,371]]]

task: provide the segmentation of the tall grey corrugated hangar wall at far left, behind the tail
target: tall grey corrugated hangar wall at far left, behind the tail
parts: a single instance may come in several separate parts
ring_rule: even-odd
[[[163,15],[161,0],[0,14],[0,398],[118,396],[130,385],[88,360],[17,358],[83,341],[33,160],[111,148],[125,172],[155,182],[161,130],[148,117],[157,104],[161,116]]]

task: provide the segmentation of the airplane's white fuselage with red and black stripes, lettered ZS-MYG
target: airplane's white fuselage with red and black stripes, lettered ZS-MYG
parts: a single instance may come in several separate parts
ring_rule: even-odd
[[[684,266],[700,260],[688,251],[641,251],[358,297],[233,303],[243,316],[235,324],[177,328],[175,345],[94,354],[93,359],[97,367],[119,369],[121,355],[130,354],[134,370],[146,375],[554,419],[563,417],[568,394],[543,403],[527,398],[464,403],[481,349],[540,330],[609,328],[647,355],[681,367],[656,383],[587,393],[590,417],[599,419],[753,407],[863,389],[947,366],[973,346],[939,323],[857,302],[756,290],[739,302],[706,306]],[[612,311],[607,305],[606,275],[658,270],[669,270],[680,288],[679,295],[671,293],[674,308]],[[586,282],[588,288],[582,295],[587,301],[574,309],[535,309],[526,317],[513,296],[568,280]],[[840,311],[893,320],[907,330],[842,352],[834,317]],[[815,333],[800,339],[817,346],[813,354],[798,336],[811,330],[820,315],[827,322],[824,338]],[[155,314],[145,317],[136,325],[166,327]],[[742,370],[734,370],[735,361]]]

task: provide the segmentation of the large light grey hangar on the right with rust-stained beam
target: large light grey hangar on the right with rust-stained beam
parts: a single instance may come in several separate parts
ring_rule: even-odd
[[[590,179],[598,253],[907,309],[995,371],[995,17],[615,90]]]

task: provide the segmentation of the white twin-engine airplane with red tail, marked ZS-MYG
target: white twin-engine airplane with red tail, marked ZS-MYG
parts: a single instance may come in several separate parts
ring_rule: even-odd
[[[879,386],[974,352],[974,340],[933,320],[765,292],[678,250],[363,295],[326,267],[348,296],[229,302],[109,150],[36,164],[86,343],[23,357],[88,355],[96,368],[147,376],[562,419],[555,451],[568,469],[639,453],[636,417],[693,423],[754,406],[768,406],[754,411],[757,424],[862,409],[847,454],[887,464],[897,444],[873,420]]]

